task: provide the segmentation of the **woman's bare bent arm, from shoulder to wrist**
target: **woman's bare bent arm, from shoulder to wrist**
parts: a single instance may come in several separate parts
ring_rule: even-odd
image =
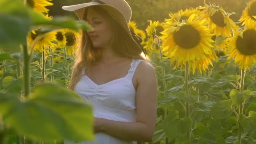
[[[103,132],[128,141],[151,141],[157,117],[157,80],[151,64],[141,61],[134,77],[136,88],[136,122],[95,119],[95,132]]]

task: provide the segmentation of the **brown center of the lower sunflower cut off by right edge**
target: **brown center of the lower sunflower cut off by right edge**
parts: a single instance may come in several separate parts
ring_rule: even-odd
[[[243,55],[254,55],[256,54],[256,31],[253,29],[248,29],[243,32],[243,38],[238,37],[236,41],[236,46],[238,51]]]

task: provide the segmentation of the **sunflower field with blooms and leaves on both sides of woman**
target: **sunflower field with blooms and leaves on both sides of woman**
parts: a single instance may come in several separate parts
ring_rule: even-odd
[[[91,27],[51,5],[0,1],[0,144],[94,139],[91,105],[67,88]],[[155,133],[138,144],[256,144],[256,0],[233,14],[205,2],[146,29],[129,23],[158,79]]]

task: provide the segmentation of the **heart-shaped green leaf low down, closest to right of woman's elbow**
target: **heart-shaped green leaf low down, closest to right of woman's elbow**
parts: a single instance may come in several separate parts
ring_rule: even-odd
[[[178,115],[178,111],[171,111],[163,121],[163,129],[169,141],[189,131],[191,120],[187,117],[184,119],[178,118]]]

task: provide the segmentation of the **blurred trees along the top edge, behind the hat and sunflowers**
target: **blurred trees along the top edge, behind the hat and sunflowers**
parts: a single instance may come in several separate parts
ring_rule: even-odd
[[[91,0],[53,0],[54,5],[50,6],[49,14],[56,15],[69,15],[74,16],[74,13],[64,11],[61,9],[64,5],[75,5],[78,3],[86,3]],[[204,5],[204,0],[126,0],[131,5],[133,14],[132,19],[136,21],[140,29],[146,29],[149,24],[149,20],[164,21],[168,18],[168,14],[179,11],[180,9],[186,9],[190,7],[197,7]],[[246,3],[249,0],[206,0],[206,3],[216,3],[227,12],[235,12],[236,14],[230,16],[233,21],[237,21],[243,9],[246,7]]]

